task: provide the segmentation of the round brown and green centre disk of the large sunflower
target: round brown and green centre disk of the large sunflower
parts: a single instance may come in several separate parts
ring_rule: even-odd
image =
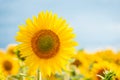
[[[32,38],[32,49],[40,58],[51,58],[57,54],[60,47],[58,36],[51,30],[40,30]]]

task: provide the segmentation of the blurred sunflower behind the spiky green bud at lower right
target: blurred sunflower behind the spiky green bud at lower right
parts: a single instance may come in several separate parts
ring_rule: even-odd
[[[92,80],[101,80],[100,76],[105,77],[106,71],[112,71],[116,74],[116,66],[108,62],[94,64],[92,68]]]

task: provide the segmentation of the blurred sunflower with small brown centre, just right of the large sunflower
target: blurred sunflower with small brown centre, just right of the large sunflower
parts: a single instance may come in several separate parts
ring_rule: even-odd
[[[72,65],[76,66],[76,72],[82,74],[85,78],[90,78],[88,54],[85,50],[79,51],[75,56]],[[79,72],[78,72],[79,70]]]

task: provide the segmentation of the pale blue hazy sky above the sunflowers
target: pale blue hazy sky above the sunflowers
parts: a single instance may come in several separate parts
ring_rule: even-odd
[[[15,43],[18,25],[46,10],[74,28],[77,49],[120,48],[120,0],[0,0],[0,48]]]

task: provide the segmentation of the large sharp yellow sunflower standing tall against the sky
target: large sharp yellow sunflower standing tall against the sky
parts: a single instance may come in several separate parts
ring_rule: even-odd
[[[76,46],[75,34],[66,20],[52,12],[40,12],[38,17],[27,19],[26,25],[19,28],[18,50],[26,57],[25,63],[32,73],[40,69],[42,76],[50,76],[65,69]]]

